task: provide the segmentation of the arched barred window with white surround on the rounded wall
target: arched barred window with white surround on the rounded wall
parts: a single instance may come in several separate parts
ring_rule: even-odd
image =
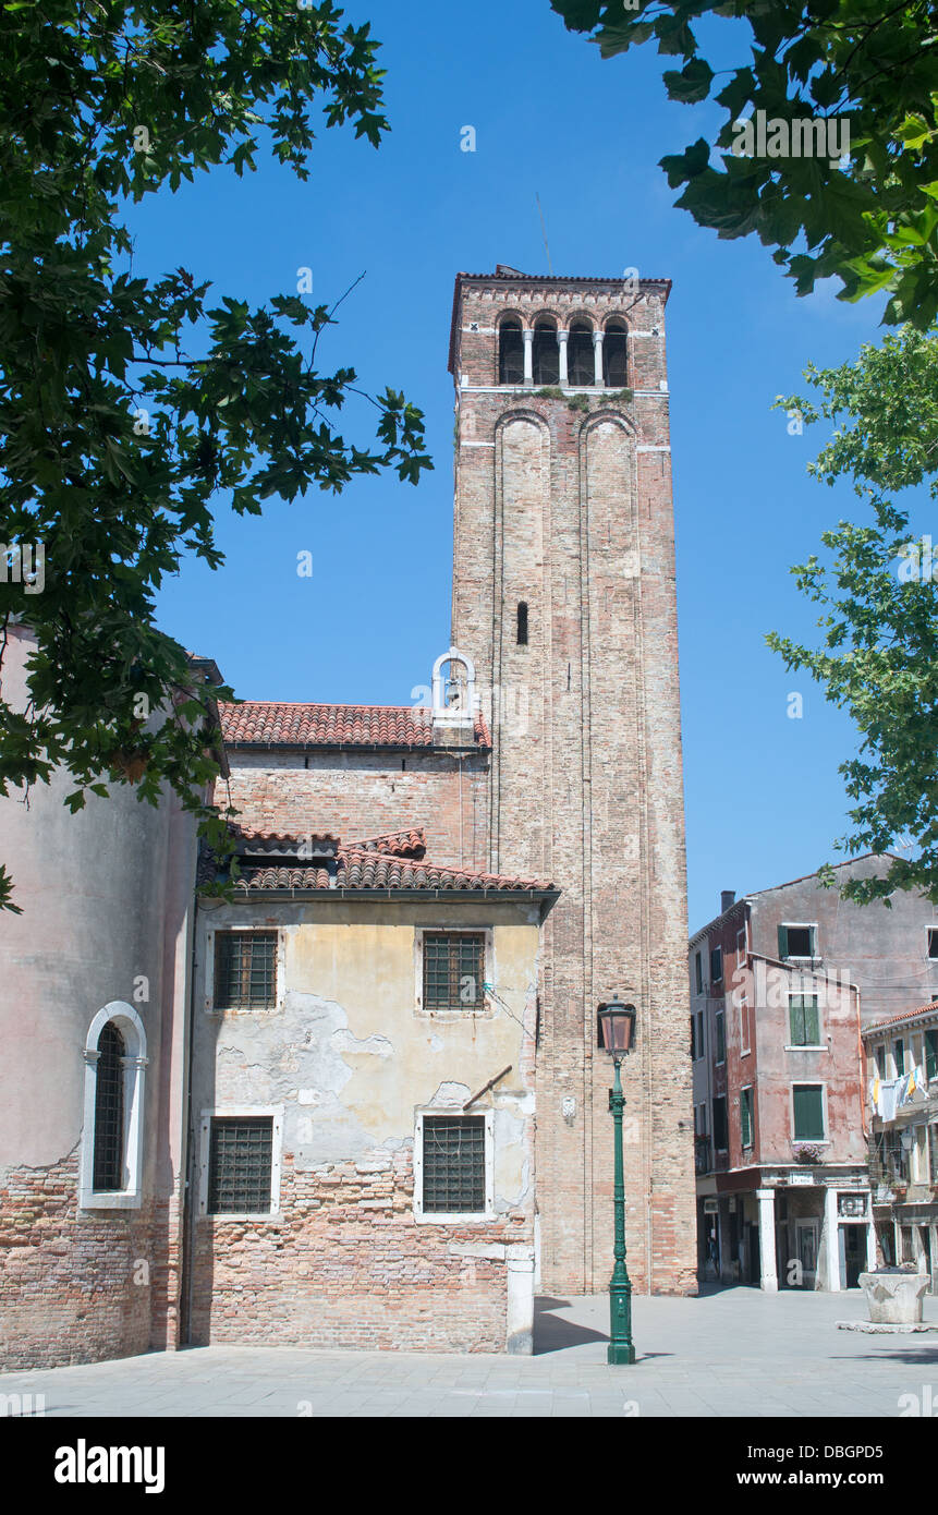
[[[82,1209],[139,1209],[147,1036],[132,1004],[112,1000],[85,1041]]]

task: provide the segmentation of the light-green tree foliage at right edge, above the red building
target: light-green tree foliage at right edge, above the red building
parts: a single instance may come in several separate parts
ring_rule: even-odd
[[[882,347],[861,348],[856,362],[811,365],[805,377],[820,403],[776,403],[808,423],[835,424],[809,471],[830,486],[850,479],[870,518],[823,533],[829,562],[812,556],[791,570],[821,606],[821,645],[767,639],[861,732],[858,756],[840,768],[855,806],[838,847],[856,854],[915,842],[914,856],[897,857],[883,877],[853,879],[841,892],[867,903],[921,889],[938,903],[938,539],[932,561],[930,538],[912,541],[909,512],[891,498],[915,486],[938,498],[938,336],[903,327]]]

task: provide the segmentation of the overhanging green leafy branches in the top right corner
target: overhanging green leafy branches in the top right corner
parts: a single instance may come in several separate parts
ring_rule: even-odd
[[[593,32],[603,58],[655,39],[680,68],[664,71],[671,100],[706,100],[718,74],[693,24],[738,27],[739,62],[715,95],[726,121],[712,148],[699,138],[661,159],[677,200],[721,238],[755,232],[806,294],[836,276],[840,297],[888,291],[885,321],[926,330],[938,315],[938,11],[932,0],[552,0],[567,27]],[[849,164],[788,150],[783,130],[746,156],[735,123],[812,117],[849,123]],[[838,144],[843,139],[838,138]],[[774,147],[773,147],[774,142]],[[736,152],[733,152],[736,144]],[[799,142],[800,145],[800,142]]]

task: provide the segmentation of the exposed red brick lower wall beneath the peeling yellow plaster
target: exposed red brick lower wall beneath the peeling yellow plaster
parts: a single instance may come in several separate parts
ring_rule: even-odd
[[[530,1217],[417,1223],[412,1145],[300,1173],[280,1215],[195,1223],[192,1341],[505,1351],[511,1248]]]

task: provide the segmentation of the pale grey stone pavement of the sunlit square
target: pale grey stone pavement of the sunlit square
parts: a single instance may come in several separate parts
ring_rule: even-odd
[[[938,1321],[936,1297],[924,1315]],[[900,1395],[932,1413],[938,1338],[836,1330],[858,1318],[858,1289],[638,1295],[639,1360],[611,1368],[606,1295],[544,1298],[533,1357],[195,1347],[0,1374],[0,1395],[44,1394],[47,1417],[897,1417]]]

